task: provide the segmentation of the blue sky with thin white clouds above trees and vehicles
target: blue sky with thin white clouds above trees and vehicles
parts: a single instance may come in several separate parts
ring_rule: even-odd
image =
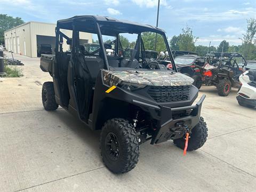
[[[156,26],[158,0],[2,0],[0,13],[27,21],[56,23],[74,15],[103,15]],[[218,46],[225,39],[241,44],[246,19],[256,18],[256,0],[160,0],[158,27],[170,39],[189,26],[198,37],[196,45]]]

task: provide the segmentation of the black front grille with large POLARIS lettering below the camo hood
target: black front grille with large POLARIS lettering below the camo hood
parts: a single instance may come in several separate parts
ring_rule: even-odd
[[[190,85],[188,86],[151,86],[148,94],[156,102],[184,101],[189,99]]]

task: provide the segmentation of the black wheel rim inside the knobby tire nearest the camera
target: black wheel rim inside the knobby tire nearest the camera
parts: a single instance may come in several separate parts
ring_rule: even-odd
[[[116,161],[120,154],[120,145],[115,133],[109,132],[105,140],[107,156]]]

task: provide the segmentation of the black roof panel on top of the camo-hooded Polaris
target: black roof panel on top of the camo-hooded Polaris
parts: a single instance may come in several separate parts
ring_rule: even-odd
[[[96,33],[97,26],[95,22],[99,23],[101,34],[115,36],[119,33],[135,33],[150,31],[163,34],[164,30],[151,25],[144,25],[138,22],[127,20],[117,20],[111,17],[103,17],[99,15],[82,15],[75,16],[69,19],[57,21],[57,27],[61,29],[73,30],[73,24],[79,31],[87,33]]]

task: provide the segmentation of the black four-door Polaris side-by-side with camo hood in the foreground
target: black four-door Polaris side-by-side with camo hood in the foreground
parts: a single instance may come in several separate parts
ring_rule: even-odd
[[[62,33],[66,30],[73,31],[71,37]],[[163,38],[171,70],[158,58],[145,56],[145,32]],[[99,49],[87,51],[79,41],[81,33],[97,37]],[[131,57],[125,57],[121,34],[137,37]],[[103,42],[106,38],[112,44]],[[71,50],[65,51],[66,43]],[[193,105],[198,89],[192,78],[177,72],[163,30],[98,15],[76,16],[57,22],[55,53],[41,57],[41,69],[53,78],[43,84],[43,106],[55,110],[60,105],[85,127],[101,130],[101,155],[110,171],[132,170],[146,141],[153,145],[173,140],[185,152],[204,145],[205,95]]]

